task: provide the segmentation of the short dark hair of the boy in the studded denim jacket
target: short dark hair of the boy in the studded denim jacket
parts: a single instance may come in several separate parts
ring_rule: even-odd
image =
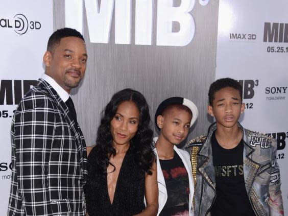
[[[208,98],[209,98],[209,105],[212,106],[213,100],[215,99],[215,93],[222,88],[231,87],[239,91],[239,95],[241,97],[242,102],[242,93],[243,88],[242,85],[232,78],[222,78],[214,81],[209,88]]]

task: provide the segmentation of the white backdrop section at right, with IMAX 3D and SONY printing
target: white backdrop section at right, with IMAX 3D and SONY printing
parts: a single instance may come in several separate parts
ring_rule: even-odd
[[[243,85],[246,107],[241,124],[276,139],[284,212],[288,213],[286,9],[288,2],[285,0],[221,0],[216,79],[231,77],[238,80]]]

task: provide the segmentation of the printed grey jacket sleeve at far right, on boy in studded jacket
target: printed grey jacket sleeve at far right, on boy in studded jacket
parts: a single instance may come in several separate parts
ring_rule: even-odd
[[[272,141],[272,171],[271,171],[271,179],[269,184],[269,194],[270,199],[268,201],[268,205],[270,208],[270,215],[278,216],[284,215],[283,210],[283,201],[281,195],[281,181],[280,181],[280,170],[276,159],[277,154],[277,143],[275,139]]]

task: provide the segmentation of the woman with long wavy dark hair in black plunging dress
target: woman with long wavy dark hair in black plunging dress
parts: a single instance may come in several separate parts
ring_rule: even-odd
[[[157,214],[157,169],[150,122],[149,106],[138,91],[119,91],[105,107],[97,145],[88,157],[89,216]]]

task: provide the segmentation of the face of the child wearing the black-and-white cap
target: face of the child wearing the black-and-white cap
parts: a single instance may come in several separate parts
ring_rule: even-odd
[[[158,115],[157,124],[161,135],[170,143],[178,145],[188,135],[191,117],[189,112],[178,108],[171,108],[163,116]]]

